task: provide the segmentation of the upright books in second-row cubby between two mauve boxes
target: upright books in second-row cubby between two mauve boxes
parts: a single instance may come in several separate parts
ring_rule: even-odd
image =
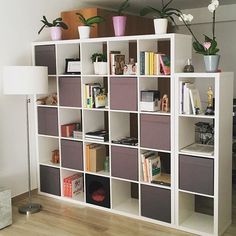
[[[100,83],[87,83],[84,88],[85,108],[106,107],[107,95]]]

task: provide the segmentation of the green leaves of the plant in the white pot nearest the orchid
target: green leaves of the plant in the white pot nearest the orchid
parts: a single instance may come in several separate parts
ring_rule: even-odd
[[[170,21],[172,21],[176,25],[173,16],[179,16],[181,14],[181,11],[179,9],[169,7],[169,5],[172,2],[173,2],[173,0],[169,0],[167,3],[165,3],[165,1],[162,0],[160,9],[153,8],[153,7],[150,7],[150,6],[144,7],[140,11],[140,15],[145,16],[147,14],[154,13],[154,16],[156,18],[169,19]]]

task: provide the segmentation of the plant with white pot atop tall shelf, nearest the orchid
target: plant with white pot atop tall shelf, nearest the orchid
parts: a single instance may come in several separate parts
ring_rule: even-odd
[[[140,11],[141,16],[154,13],[155,34],[165,34],[167,32],[168,20],[176,25],[173,16],[179,16],[181,11],[176,8],[169,7],[172,2],[173,0],[169,0],[167,3],[165,3],[165,1],[162,0],[160,9],[147,6]]]

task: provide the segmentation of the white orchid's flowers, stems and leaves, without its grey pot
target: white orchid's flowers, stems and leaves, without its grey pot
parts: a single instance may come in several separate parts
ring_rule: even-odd
[[[193,48],[196,53],[203,54],[203,55],[216,55],[217,52],[219,52],[219,49],[217,48],[217,42],[215,37],[215,17],[216,17],[216,9],[219,6],[218,0],[211,0],[211,3],[208,5],[208,10],[212,13],[212,37],[205,36],[204,43],[201,43],[196,36],[194,35],[190,24],[193,20],[193,16],[191,14],[180,14],[179,20],[184,23],[184,25],[187,27],[189,32],[192,34],[194,42],[193,42]]]

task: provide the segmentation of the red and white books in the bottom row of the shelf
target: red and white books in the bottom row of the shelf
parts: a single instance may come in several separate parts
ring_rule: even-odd
[[[76,198],[83,192],[83,176],[74,174],[63,179],[63,192],[65,197]]]

